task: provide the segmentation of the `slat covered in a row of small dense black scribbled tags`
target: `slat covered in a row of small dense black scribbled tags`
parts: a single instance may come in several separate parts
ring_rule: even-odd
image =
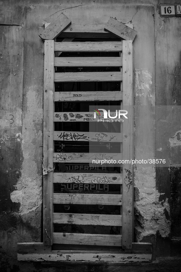
[[[115,116],[115,113],[110,113],[111,117]],[[109,118],[109,116],[107,115]],[[96,114],[96,118],[94,118],[94,112],[54,112],[54,122],[97,122],[98,120],[104,119],[104,113],[100,112],[98,116]],[[110,119],[110,118],[109,118]],[[110,123],[119,122],[118,116],[112,119]],[[121,120],[121,119],[120,119]],[[103,122],[103,121],[99,121]],[[104,119],[104,124],[107,124],[108,120]]]

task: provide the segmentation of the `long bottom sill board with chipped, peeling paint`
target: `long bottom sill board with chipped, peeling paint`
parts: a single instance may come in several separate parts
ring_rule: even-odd
[[[17,255],[18,261],[35,261],[35,262],[45,262],[50,263],[51,262],[57,262],[58,261],[66,261],[66,265],[68,265],[69,262],[74,262],[74,261],[81,261],[81,264],[84,261],[89,261],[92,262],[94,265],[100,265],[100,263],[104,264],[104,262],[115,262],[115,263],[131,263],[131,262],[151,262],[152,255],[151,254],[125,254],[125,253],[120,253],[120,252],[100,252],[100,251],[95,251],[95,252],[89,252],[89,253],[50,253],[50,254],[19,254]],[[69,261],[69,262],[67,262]],[[76,264],[76,262],[74,262]],[[79,263],[80,264],[80,263]],[[115,266],[114,266],[115,269]],[[125,269],[125,268],[124,268]],[[135,269],[135,268],[134,268]],[[153,269],[151,269],[153,270]],[[148,271],[151,271],[148,270]],[[128,271],[128,270],[126,270]],[[129,268],[130,271],[130,268]],[[131,270],[133,271],[133,270]],[[140,271],[145,271],[145,266],[144,270],[140,268]]]

